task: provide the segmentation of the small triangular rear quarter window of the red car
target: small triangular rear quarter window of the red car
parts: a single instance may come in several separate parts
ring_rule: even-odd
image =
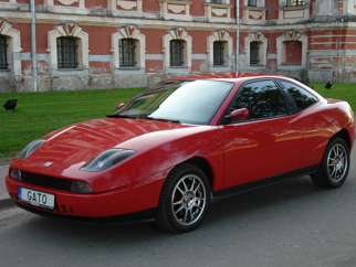
[[[281,81],[281,84],[292,95],[296,104],[296,107],[300,111],[308,108],[310,106],[318,102],[317,97],[314,96],[312,93],[307,92],[306,89],[303,89],[302,87],[293,83]]]

